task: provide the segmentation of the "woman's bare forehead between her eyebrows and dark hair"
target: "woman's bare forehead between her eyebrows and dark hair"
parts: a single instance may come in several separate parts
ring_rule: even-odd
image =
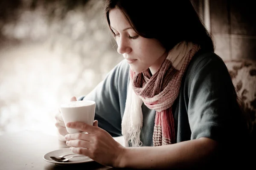
[[[109,11],[109,20],[110,26],[117,31],[121,31],[127,27],[130,27],[130,24],[128,23],[125,15],[117,8],[111,9]]]

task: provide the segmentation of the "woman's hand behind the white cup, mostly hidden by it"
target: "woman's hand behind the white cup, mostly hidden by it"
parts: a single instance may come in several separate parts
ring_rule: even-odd
[[[71,97],[70,101],[76,101],[76,97],[75,96]],[[58,133],[59,135],[61,135],[60,137],[63,140],[64,136],[67,135],[68,132],[67,132],[64,120],[62,118],[60,108],[58,109],[58,113],[55,115],[55,119],[56,119],[55,126],[57,127]]]

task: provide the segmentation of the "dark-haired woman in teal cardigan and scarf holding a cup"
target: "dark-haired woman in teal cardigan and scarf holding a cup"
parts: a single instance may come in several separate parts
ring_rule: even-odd
[[[247,131],[236,91],[191,2],[106,0],[105,16],[125,59],[80,98],[96,101],[94,126],[66,125],[88,134],[68,134],[56,116],[71,150],[141,169],[204,167],[241,153]]]

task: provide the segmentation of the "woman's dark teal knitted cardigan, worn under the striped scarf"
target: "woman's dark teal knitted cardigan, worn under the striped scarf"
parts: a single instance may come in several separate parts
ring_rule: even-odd
[[[123,60],[107,77],[80,99],[96,101],[95,119],[111,136],[122,136],[121,122],[129,83],[129,65]],[[232,150],[246,141],[246,125],[236,102],[235,88],[223,60],[212,52],[200,51],[189,63],[172,107],[175,142],[207,137]],[[144,104],[140,139],[153,146],[155,111]],[[229,149],[228,149],[229,148]]]

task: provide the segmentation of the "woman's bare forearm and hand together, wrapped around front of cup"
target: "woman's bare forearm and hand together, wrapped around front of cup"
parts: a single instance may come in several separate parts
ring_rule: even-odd
[[[111,167],[161,169],[196,167],[214,156],[217,142],[200,138],[158,147],[123,147],[109,133],[81,122],[67,123],[68,127],[86,131],[65,136],[73,153]]]

